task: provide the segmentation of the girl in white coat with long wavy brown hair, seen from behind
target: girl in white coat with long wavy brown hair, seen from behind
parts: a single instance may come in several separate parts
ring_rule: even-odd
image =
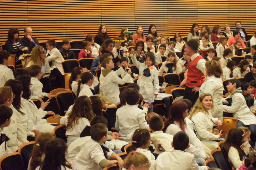
[[[85,126],[90,126],[93,118],[90,98],[87,96],[77,98],[71,113],[60,119],[60,124],[66,125],[68,146],[79,137]]]

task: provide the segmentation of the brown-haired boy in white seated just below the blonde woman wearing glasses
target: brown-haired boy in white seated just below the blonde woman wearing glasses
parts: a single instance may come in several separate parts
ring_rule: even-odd
[[[48,97],[51,98],[50,95],[43,92],[43,84],[39,81],[42,77],[41,67],[39,65],[33,64],[29,67],[29,74],[31,77],[31,96],[37,96],[39,98]]]

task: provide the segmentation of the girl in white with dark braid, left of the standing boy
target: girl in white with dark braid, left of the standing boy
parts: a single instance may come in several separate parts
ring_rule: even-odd
[[[93,96],[95,92],[91,89],[93,85],[93,74],[91,72],[83,72],[80,76],[77,86],[77,97],[80,96]]]

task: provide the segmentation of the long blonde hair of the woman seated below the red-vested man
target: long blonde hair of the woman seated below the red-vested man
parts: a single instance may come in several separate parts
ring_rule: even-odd
[[[189,119],[192,119],[192,117],[195,116],[198,112],[202,112],[202,113],[206,114],[204,107],[201,104],[201,102],[203,101],[203,99],[206,96],[211,96],[211,98],[212,98],[212,95],[209,93],[204,93],[201,96],[199,96],[199,98],[197,99],[196,103],[194,104],[194,106],[192,108],[191,113],[189,114]],[[214,111],[213,98],[212,98],[212,106],[210,109],[212,110],[212,112]]]

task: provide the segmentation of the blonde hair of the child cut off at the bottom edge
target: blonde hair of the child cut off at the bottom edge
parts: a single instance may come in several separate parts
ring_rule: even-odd
[[[124,159],[124,163],[120,167],[120,170],[123,168],[130,169],[132,165],[136,168],[144,168],[150,167],[150,162],[144,154],[134,151],[130,152]]]

